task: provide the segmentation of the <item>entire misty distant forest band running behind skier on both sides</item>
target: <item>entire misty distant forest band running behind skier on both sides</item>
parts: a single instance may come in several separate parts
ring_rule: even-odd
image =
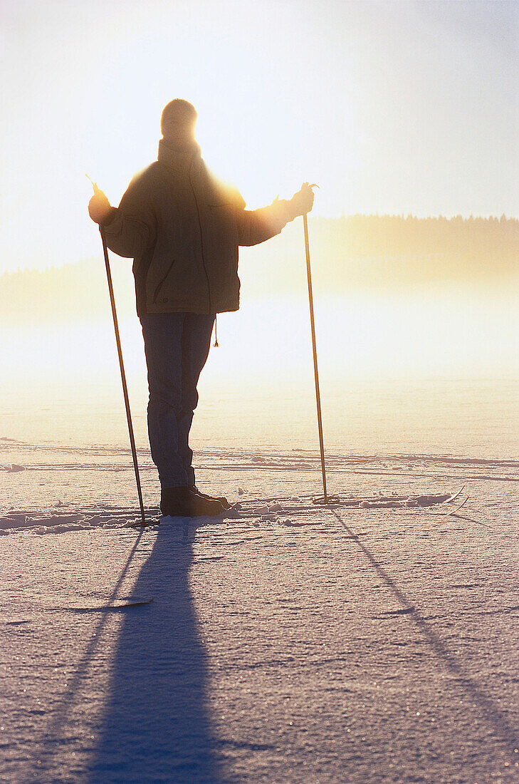
[[[519,274],[519,220],[351,215],[309,218],[315,291],[341,295],[362,289],[475,282],[508,285]],[[112,257],[117,303],[135,313],[132,262]],[[301,220],[276,238],[240,250],[242,301],[303,294],[306,287]],[[517,285],[517,284],[514,284]],[[105,318],[102,256],[48,270],[0,276],[0,321]]]

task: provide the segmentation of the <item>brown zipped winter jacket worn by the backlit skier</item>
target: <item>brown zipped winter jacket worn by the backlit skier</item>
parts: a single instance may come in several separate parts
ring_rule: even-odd
[[[238,310],[238,246],[257,245],[294,219],[290,201],[246,210],[239,191],[208,171],[200,147],[160,140],[103,222],[108,247],[133,258],[139,316]]]

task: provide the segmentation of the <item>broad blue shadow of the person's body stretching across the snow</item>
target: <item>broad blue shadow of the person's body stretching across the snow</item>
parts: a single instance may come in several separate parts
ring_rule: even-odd
[[[186,531],[185,531],[186,532]],[[206,706],[207,665],[189,590],[192,543],[157,532],[126,608],[90,782],[221,782]]]

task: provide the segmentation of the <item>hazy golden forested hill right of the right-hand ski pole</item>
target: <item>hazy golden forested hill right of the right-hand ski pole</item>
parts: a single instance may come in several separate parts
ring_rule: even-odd
[[[312,238],[319,267],[327,260],[337,282],[497,279],[519,271],[519,220],[505,216],[317,218]]]

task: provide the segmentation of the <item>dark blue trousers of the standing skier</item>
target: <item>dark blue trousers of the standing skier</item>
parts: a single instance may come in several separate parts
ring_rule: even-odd
[[[162,488],[195,484],[189,430],[198,403],[214,315],[160,313],[141,317],[148,366],[148,434]]]

